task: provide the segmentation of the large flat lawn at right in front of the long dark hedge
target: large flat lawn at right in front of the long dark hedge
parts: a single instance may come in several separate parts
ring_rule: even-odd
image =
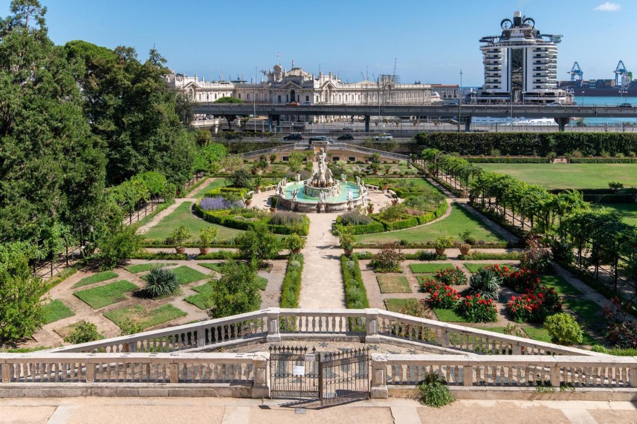
[[[637,185],[637,164],[479,164],[544,188],[608,188],[609,181]]]

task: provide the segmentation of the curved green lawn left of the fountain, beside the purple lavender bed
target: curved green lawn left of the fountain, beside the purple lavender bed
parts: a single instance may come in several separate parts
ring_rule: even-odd
[[[183,202],[177,208],[157,223],[154,227],[151,227],[147,232],[143,234],[143,237],[147,240],[161,240],[164,241],[166,237],[170,235],[173,230],[179,225],[185,225],[190,230],[190,243],[196,243],[199,238],[199,231],[206,227],[215,227],[219,230],[219,240],[233,239],[238,234],[241,234],[243,230],[235,230],[228,227],[222,227],[221,225],[206,222],[198,216],[194,215],[190,211],[192,203]]]

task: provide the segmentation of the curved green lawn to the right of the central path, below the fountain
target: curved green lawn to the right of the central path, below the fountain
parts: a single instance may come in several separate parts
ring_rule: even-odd
[[[443,220],[429,225],[421,225],[420,227],[399,231],[362,234],[361,236],[357,236],[357,241],[358,243],[397,243],[401,240],[405,240],[408,243],[426,243],[432,242],[440,236],[449,236],[454,237],[455,241],[460,242],[461,239],[458,234],[466,230],[471,232],[471,235],[477,240],[505,241],[492,232],[489,227],[484,225],[475,215],[455,203],[451,206],[451,214]]]

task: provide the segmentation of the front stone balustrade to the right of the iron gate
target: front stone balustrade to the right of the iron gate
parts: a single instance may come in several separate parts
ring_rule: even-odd
[[[372,397],[415,386],[429,373],[450,386],[554,388],[637,387],[637,358],[582,356],[371,354]]]

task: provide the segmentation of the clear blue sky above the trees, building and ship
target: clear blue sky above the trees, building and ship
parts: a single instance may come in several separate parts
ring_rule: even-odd
[[[136,48],[155,46],[176,72],[206,80],[259,80],[277,60],[289,69],[338,73],[359,81],[394,72],[403,83],[483,83],[478,40],[501,32],[513,11],[547,34],[563,34],[558,78],[578,61],[584,79],[614,78],[619,60],[637,71],[637,1],[617,0],[40,0],[56,44],[83,39]],[[0,0],[0,15],[10,0]],[[280,53],[280,59],[277,55]],[[368,69],[368,71],[366,70]]]

